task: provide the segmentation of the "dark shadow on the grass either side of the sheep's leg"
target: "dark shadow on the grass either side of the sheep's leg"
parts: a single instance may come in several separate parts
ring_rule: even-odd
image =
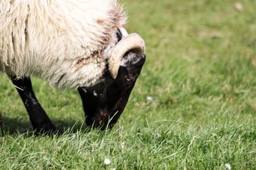
[[[80,130],[88,132],[87,126],[83,122],[76,120],[54,120],[52,122],[61,132],[73,133]],[[33,127],[29,121],[19,118],[0,117],[0,137],[12,134],[28,133],[33,135]]]

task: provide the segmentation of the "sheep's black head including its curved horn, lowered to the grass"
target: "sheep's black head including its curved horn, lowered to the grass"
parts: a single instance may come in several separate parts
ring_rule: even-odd
[[[128,102],[145,62],[145,43],[138,34],[122,39],[109,59],[104,81],[78,89],[86,113],[86,124],[113,127]]]

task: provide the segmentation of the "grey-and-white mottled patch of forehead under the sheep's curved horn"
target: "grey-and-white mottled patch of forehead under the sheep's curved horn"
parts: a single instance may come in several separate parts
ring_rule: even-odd
[[[129,67],[136,65],[143,65],[145,62],[145,55],[127,52],[120,62],[120,66]]]

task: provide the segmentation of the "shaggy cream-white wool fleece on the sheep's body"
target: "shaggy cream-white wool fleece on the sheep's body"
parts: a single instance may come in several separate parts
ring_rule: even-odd
[[[106,71],[102,53],[125,21],[116,0],[1,0],[0,71],[60,89],[90,87]]]

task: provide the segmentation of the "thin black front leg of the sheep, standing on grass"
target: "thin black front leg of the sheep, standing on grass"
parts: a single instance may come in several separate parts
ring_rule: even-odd
[[[10,77],[28,111],[29,118],[37,134],[51,134],[58,132],[41,104],[36,99],[30,77]]]

